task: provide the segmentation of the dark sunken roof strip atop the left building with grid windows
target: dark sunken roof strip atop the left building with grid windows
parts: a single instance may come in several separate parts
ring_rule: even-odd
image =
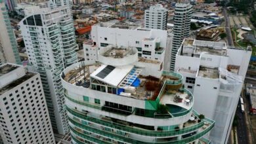
[[[15,81],[12,81],[11,83],[9,83],[7,86],[0,88],[0,95],[11,90],[12,88],[15,88],[19,84],[22,84],[22,82],[27,81],[28,79],[32,78],[34,75],[36,75],[36,73],[27,72],[26,75],[24,75],[23,77],[20,77],[19,79],[16,79]]]

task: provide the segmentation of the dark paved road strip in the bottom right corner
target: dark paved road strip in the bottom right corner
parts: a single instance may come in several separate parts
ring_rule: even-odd
[[[247,128],[245,123],[245,114],[241,112],[241,103],[239,101],[238,108],[236,109],[236,115],[238,116],[238,126],[236,127],[236,132],[238,135],[238,144],[249,143]],[[245,113],[247,109],[245,108]]]

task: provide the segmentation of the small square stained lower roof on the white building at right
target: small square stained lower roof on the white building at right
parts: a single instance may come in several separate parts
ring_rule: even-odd
[[[219,71],[217,68],[200,67],[198,71],[198,77],[219,79]]]

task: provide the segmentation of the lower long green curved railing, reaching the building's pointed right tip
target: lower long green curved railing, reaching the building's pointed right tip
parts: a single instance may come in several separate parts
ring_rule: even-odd
[[[98,128],[93,128],[89,125],[85,125],[85,124],[81,124],[75,120],[72,120],[72,118],[69,117],[69,120],[72,124],[74,124],[75,126],[77,126],[78,128],[81,128],[83,130],[87,130],[89,132],[92,132],[94,134],[98,134],[98,135],[104,135],[105,137],[109,137],[109,138],[112,138],[112,139],[116,139],[118,141],[123,141],[125,143],[190,143],[192,141],[195,141],[196,139],[199,139],[200,137],[202,137],[203,135],[207,134],[207,132],[209,132],[214,124],[211,124],[211,126],[205,128],[205,130],[203,130],[202,132],[199,132],[197,134],[194,134],[190,137],[186,137],[184,139],[177,139],[177,140],[174,140],[174,141],[164,141],[164,142],[151,142],[151,141],[141,141],[141,140],[138,140],[138,139],[133,139],[131,137],[125,137],[124,135],[118,135],[118,134],[115,134],[113,132],[108,132],[108,131],[104,131],[104,130],[100,130]],[[71,128],[72,129],[72,128]],[[80,134],[80,135],[85,135],[85,134],[82,134],[81,132],[78,132],[76,130],[72,130],[75,134]]]

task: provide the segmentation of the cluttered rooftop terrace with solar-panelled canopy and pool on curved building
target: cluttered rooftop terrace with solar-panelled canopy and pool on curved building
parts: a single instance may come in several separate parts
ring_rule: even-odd
[[[135,65],[112,66],[95,63],[76,65],[64,81],[93,90],[117,94],[128,98],[156,101],[172,107],[170,113],[187,113],[192,107],[192,94],[182,88],[182,75],[163,71],[160,78],[140,75]],[[173,108],[175,107],[175,108]]]

